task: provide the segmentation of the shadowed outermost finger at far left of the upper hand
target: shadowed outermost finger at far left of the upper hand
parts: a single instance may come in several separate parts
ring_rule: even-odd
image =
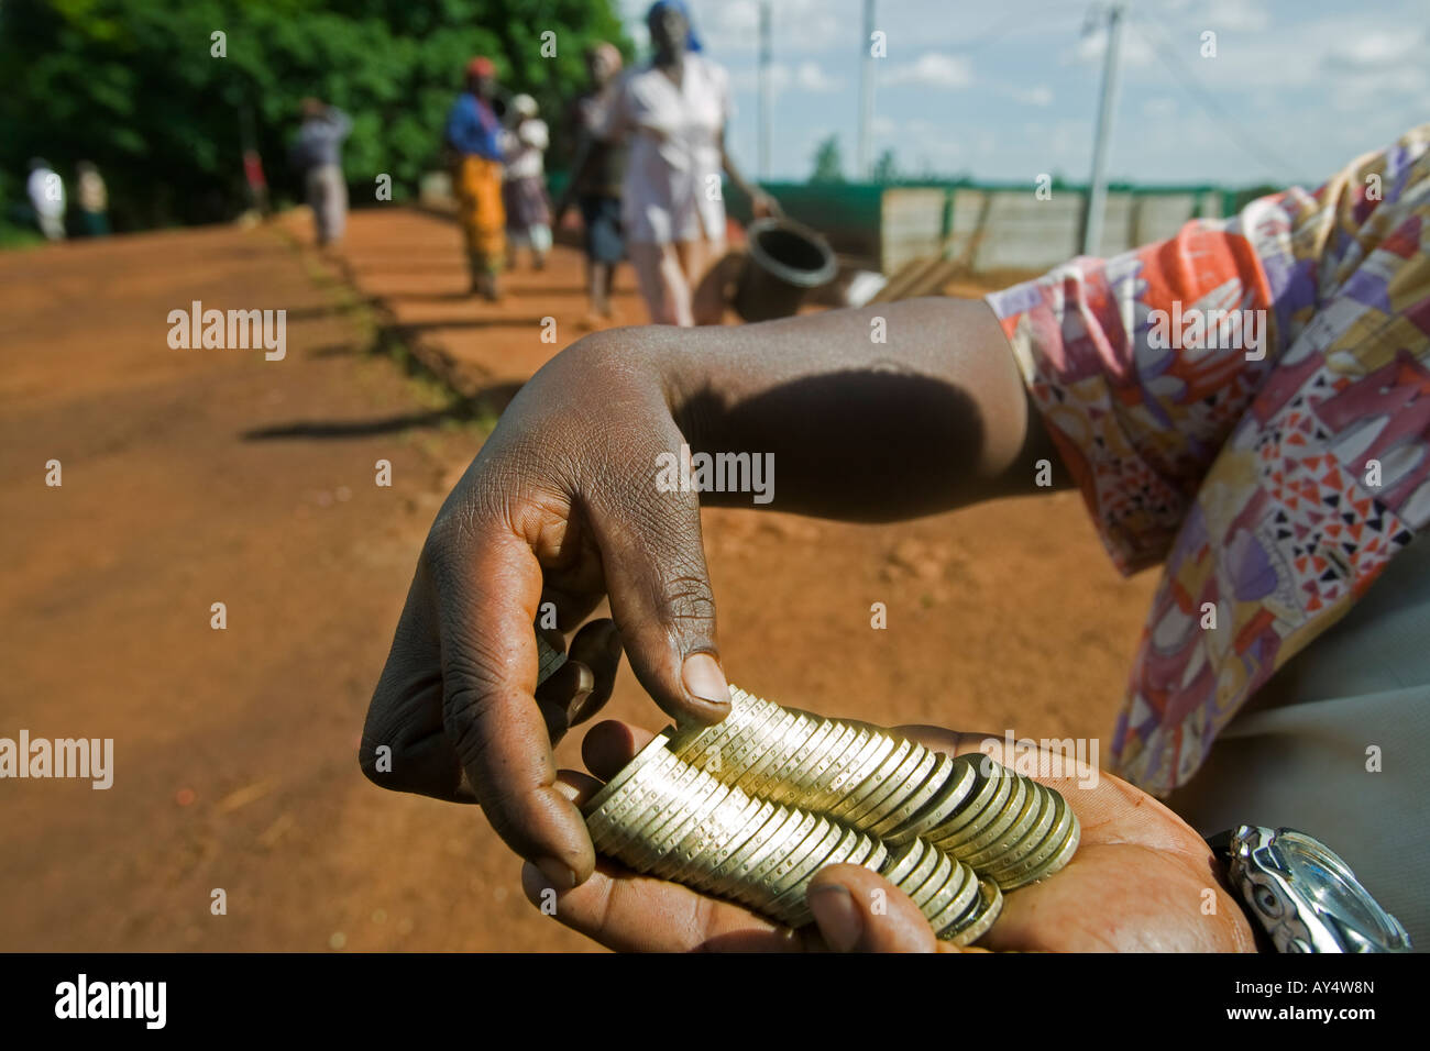
[[[368,705],[358,761],[376,785],[450,802],[476,802],[443,729],[442,656],[426,566],[408,591],[388,663]]]

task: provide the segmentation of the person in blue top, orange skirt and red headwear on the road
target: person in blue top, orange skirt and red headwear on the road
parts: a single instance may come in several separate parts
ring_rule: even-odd
[[[446,143],[453,154],[452,189],[460,206],[472,292],[495,302],[498,275],[506,262],[506,209],[502,206],[502,122],[492,109],[496,67],[472,59],[466,90],[448,114]]]

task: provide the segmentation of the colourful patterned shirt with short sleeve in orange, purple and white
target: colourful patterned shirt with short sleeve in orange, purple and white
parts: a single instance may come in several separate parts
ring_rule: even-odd
[[[988,296],[1114,562],[1165,563],[1113,742],[1145,789],[1430,520],[1427,247],[1430,124],[1314,194]]]

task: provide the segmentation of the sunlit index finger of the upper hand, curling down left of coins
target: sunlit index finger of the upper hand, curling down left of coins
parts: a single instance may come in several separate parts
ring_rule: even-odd
[[[443,724],[496,834],[558,885],[595,865],[579,811],[555,789],[546,719],[536,705],[541,566],[505,523],[433,526],[430,562],[442,638]]]

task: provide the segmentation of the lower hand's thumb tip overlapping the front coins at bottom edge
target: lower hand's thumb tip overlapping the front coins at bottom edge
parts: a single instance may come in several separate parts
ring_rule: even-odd
[[[809,881],[809,911],[837,952],[937,952],[912,898],[861,865],[829,865]]]

